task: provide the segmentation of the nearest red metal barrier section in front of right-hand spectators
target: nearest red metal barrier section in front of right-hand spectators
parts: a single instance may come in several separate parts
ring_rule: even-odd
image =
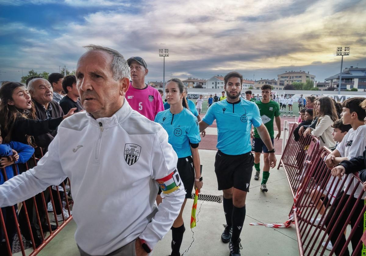
[[[353,174],[344,176],[342,180],[332,177],[321,157],[330,152],[328,148],[321,148],[299,184],[300,193],[294,204],[294,219],[300,256],[325,255],[330,240],[333,248],[327,254],[329,256],[366,255],[365,245],[361,241],[366,229],[363,191],[357,198],[353,196],[362,182]],[[344,186],[347,178],[349,182]],[[351,186],[354,182],[356,186]],[[349,223],[352,229],[345,235]],[[323,242],[325,246],[322,247]],[[350,242],[352,254],[349,252],[352,249],[348,248]]]

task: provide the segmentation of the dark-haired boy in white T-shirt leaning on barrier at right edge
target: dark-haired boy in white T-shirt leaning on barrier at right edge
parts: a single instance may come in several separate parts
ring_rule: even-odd
[[[359,157],[362,154],[363,149],[366,146],[366,125],[365,119],[365,106],[366,100],[362,97],[354,97],[347,99],[342,104],[342,113],[341,117],[344,124],[351,124],[352,128],[348,131],[346,136],[344,136],[342,142],[336,147],[336,150],[333,151],[331,154],[328,155],[326,158],[326,164],[328,167],[333,167],[337,165],[335,168],[332,169],[332,176],[338,176],[341,180],[341,177],[346,173],[350,174],[352,172],[357,172],[364,169],[364,161],[363,157]],[[341,155],[347,157],[340,157]],[[361,161],[362,160],[362,161]],[[363,164],[360,164],[362,162]],[[365,204],[365,195],[363,193],[363,186],[359,184],[358,180],[354,179],[352,184],[350,184],[352,180],[352,176],[349,175],[347,180],[344,183],[344,189],[348,186],[348,191],[341,191],[337,198],[334,200],[330,212],[328,214],[333,215],[336,212],[336,208],[341,204],[339,207],[343,209],[344,213],[339,214],[339,223],[336,225],[335,222],[330,223],[329,219],[326,221],[327,226],[335,226],[335,229],[332,236],[330,236],[330,241],[334,245],[337,241],[338,236],[341,236],[340,242],[335,249],[335,254],[340,255],[341,249],[343,245],[346,243],[346,237],[342,234],[342,228],[344,223],[346,223],[348,216],[351,214],[352,208],[355,207],[354,215],[351,217],[351,227],[355,229],[355,233],[351,238],[353,255],[359,255],[359,251],[355,252],[355,248],[361,239],[363,234],[363,221],[356,222],[357,217],[361,214],[363,206]],[[352,194],[353,190],[356,188],[355,192]],[[341,197],[343,194],[346,193],[345,198],[341,201]],[[363,194],[363,195],[361,195]],[[361,196],[361,199],[358,200],[358,197]],[[346,202],[349,203],[347,204]],[[348,248],[343,255],[350,255],[348,252]]]

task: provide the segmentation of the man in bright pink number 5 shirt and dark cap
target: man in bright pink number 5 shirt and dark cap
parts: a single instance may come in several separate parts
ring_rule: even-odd
[[[132,109],[154,121],[156,114],[164,110],[164,105],[158,90],[145,84],[145,76],[149,72],[147,64],[141,57],[131,57],[127,63],[132,82],[126,99]]]

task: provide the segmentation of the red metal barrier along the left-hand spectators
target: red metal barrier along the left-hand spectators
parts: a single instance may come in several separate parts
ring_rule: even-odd
[[[26,169],[29,169],[28,163],[36,166],[37,160],[38,159],[33,155],[33,157],[25,164]],[[14,176],[18,175],[19,169],[17,165],[12,165],[12,168]],[[1,173],[3,174],[4,180],[7,181],[8,178],[5,168],[1,169]],[[70,181],[68,180],[67,182],[69,184],[68,186],[70,186]],[[61,191],[60,188],[62,188],[63,191]],[[62,182],[59,186],[53,186],[53,188],[48,187],[38,195],[18,204],[20,206],[19,209],[18,205],[1,208],[0,231],[3,232],[5,240],[5,255],[12,255],[13,253],[13,245],[14,242],[16,242],[13,241],[15,234],[19,239],[20,252],[23,256],[26,255],[25,250],[27,248],[23,245],[23,242],[25,241],[23,241],[22,237],[25,237],[26,240],[30,241],[31,248],[33,249],[31,253],[27,252],[27,255],[37,255],[42,248],[44,248],[49,241],[51,241],[52,238],[54,238],[61,229],[63,229],[63,227],[72,220],[72,211],[70,210],[70,206],[73,202],[72,199],[68,199],[66,192],[67,189],[65,182]],[[56,196],[56,198],[54,198],[54,196]],[[66,203],[65,206],[63,206],[63,201]],[[52,213],[48,213],[48,202],[51,202],[52,204]],[[68,218],[65,218],[63,208],[67,210],[69,215]],[[59,216],[61,215],[62,220],[60,221],[57,220],[56,209],[61,211]],[[12,216],[9,216],[9,212]],[[54,219],[53,224],[51,224],[50,221],[51,217]],[[47,235],[47,233],[49,234]]]

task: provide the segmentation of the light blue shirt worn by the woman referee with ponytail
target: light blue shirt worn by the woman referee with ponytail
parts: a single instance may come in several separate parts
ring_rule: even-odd
[[[198,120],[188,109],[178,114],[172,114],[170,109],[159,112],[154,120],[161,124],[168,133],[168,142],[172,145],[178,158],[192,155],[190,142],[195,144],[201,141],[199,136]]]

